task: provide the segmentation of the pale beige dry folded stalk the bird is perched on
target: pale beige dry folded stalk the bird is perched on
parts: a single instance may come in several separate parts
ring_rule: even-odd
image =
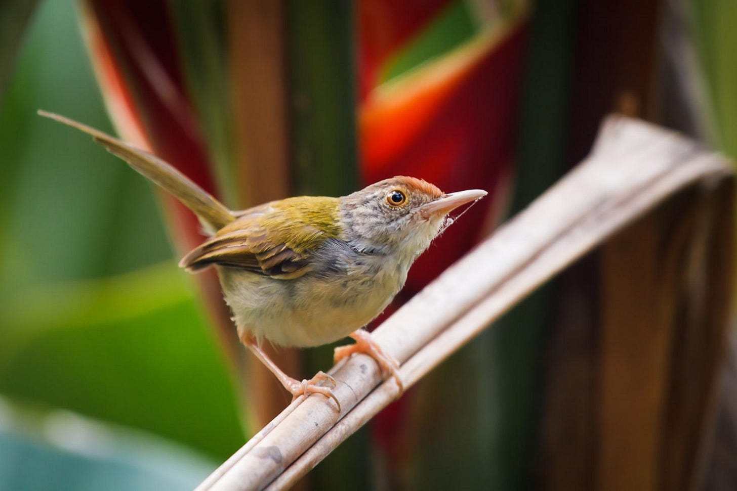
[[[411,386],[526,294],[697,182],[731,186],[732,172],[724,159],[674,133],[610,118],[590,158],[413,297],[374,339],[402,362],[402,381]],[[314,396],[290,406],[198,489],[287,487],[397,394],[391,380],[374,389],[380,374],[368,356],[349,358],[331,373],[342,413]]]

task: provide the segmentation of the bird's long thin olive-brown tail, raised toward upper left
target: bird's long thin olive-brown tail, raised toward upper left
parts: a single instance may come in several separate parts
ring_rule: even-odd
[[[135,146],[125,144],[117,138],[113,138],[111,135],[102,133],[99,130],[88,127],[86,124],[65,118],[64,116],[47,113],[43,110],[39,110],[38,114],[46,118],[55,119],[60,123],[67,124],[77,128],[77,130],[88,133],[88,135],[92,135],[94,141],[105,146],[108,152],[128,162],[128,165],[133,167],[137,172],[148,177],[166,191],[169,191],[179,201],[184,203],[187,208],[195,212],[210,232],[224,227],[235,219],[233,213],[223,203],[214,199],[203,188],[193,183],[189,177],[186,177],[169,163],[155,155],[137,149]]]

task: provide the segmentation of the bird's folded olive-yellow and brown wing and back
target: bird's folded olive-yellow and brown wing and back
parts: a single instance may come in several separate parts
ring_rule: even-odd
[[[250,208],[179,265],[196,271],[219,264],[271,278],[298,278],[310,271],[312,253],[325,240],[340,236],[333,219],[337,213],[335,198],[290,198]]]

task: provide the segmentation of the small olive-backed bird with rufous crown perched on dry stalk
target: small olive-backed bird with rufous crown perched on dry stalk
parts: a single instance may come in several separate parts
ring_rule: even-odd
[[[315,347],[351,337],[335,362],[366,353],[403,391],[399,363],[371,339],[366,325],[405,284],[410,266],[453,220],[449,213],[486,195],[481,189],[443,193],[425,180],[395,176],[343,197],[289,197],[232,211],[170,163],[83,123],[39,110],[77,128],[178,198],[209,236],[181,259],[189,272],[214,267],[238,336],[298,398],[332,392],[318,372],[298,381],[262,349]]]

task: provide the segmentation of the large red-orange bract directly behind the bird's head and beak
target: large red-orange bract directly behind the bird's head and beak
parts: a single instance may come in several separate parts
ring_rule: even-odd
[[[419,291],[479,239],[493,194],[506,182],[514,157],[526,38],[524,26],[514,29],[500,43],[471,49],[468,60],[450,60],[438,73],[407,83],[406,89],[392,88],[396,93],[368,99],[361,107],[366,183],[405,174],[444,191],[484,188],[492,194],[420,256],[402,297]]]

